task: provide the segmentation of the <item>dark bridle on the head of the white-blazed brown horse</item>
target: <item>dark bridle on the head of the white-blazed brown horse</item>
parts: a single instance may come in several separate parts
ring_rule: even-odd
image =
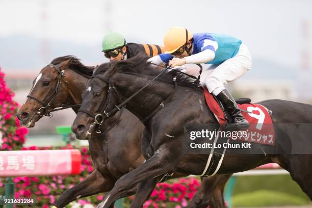
[[[54,64],[48,64],[47,66],[53,66],[53,68],[58,72],[59,76],[58,76],[58,83],[56,85],[56,88],[54,90],[54,92],[48,96],[47,100],[49,100],[48,102],[44,102],[41,101],[40,99],[32,96],[32,95],[27,95],[27,97],[36,100],[37,102],[39,102],[42,107],[38,110],[38,112],[36,113],[37,115],[43,117],[43,116],[48,116],[48,117],[52,117],[53,115],[51,114],[51,112],[54,111],[59,111],[59,110],[63,110],[63,109],[67,109],[67,108],[72,108],[72,107],[77,107],[80,106],[80,104],[78,105],[72,105],[72,106],[66,106],[63,107],[64,105],[62,105],[61,107],[54,109],[54,110],[48,110],[48,107],[51,106],[51,103],[53,102],[55,96],[58,94],[60,87],[62,86],[62,80],[65,81],[66,86],[67,86],[67,90],[69,90],[69,83],[67,80],[65,80],[64,74],[65,74],[65,70],[60,70],[56,65]]]

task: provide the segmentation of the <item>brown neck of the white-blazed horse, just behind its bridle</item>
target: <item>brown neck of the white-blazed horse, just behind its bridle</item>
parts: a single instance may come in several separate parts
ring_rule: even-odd
[[[66,99],[66,103],[68,105],[77,105],[82,103],[82,93],[85,91],[88,78],[76,73],[73,70],[67,70],[65,72],[65,79],[69,84],[69,94]],[[77,108],[73,108],[73,110],[77,113]]]

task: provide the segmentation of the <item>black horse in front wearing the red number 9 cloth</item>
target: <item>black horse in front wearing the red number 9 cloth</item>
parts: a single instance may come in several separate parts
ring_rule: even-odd
[[[98,207],[109,207],[116,198],[135,184],[139,184],[136,197],[131,207],[141,207],[154,188],[157,176],[174,171],[200,175],[205,168],[208,154],[186,154],[184,148],[184,126],[193,124],[217,123],[211,111],[203,108],[205,102],[201,89],[193,87],[194,80],[185,75],[166,73],[160,75],[146,59],[136,57],[115,63],[113,66],[100,65],[88,87],[91,91],[83,94],[81,109],[73,123],[76,135],[85,135],[94,122],[95,116],[102,115],[103,110],[116,112],[116,107],[134,93],[138,93],[126,102],[126,107],[140,120],[144,121],[145,137],[142,141],[143,155],[146,162],[137,169],[117,180]],[[178,86],[174,87],[173,79]],[[144,87],[143,90],[140,90]],[[261,105],[273,111],[274,123],[311,123],[312,106],[285,100],[265,100]],[[119,106],[118,106],[119,105]],[[91,112],[86,114],[84,112]],[[101,116],[96,122],[102,121]],[[288,134],[287,134],[288,133]],[[290,154],[290,145],[294,148],[301,142],[311,149],[310,135],[312,128],[305,128],[300,135],[292,134],[283,125],[275,126],[275,154],[226,154],[218,174],[230,174],[246,171],[266,163],[278,163],[288,170],[292,178],[312,199],[312,179],[310,168],[312,154]],[[256,146],[257,147],[257,146]],[[294,152],[294,151],[293,151]]]

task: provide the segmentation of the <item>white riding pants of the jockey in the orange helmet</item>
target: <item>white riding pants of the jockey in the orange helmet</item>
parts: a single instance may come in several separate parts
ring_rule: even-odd
[[[224,85],[244,75],[251,67],[251,56],[247,46],[242,43],[235,57],[220,65],[201,64],[200,84],[206,86],[210,93],[218,95],[225,89]],[[198,76],[199,67],[186,64],[186,73]]]

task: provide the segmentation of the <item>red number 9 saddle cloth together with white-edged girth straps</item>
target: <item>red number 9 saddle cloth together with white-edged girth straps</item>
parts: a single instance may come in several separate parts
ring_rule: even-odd
[[[211,94],[206,88],[204,88],[205,100],[207,107],[213,112],[219,124],[226,124],[233,122],[233,118],[226,108],[222,106],[222,103]],[[253,124],[248,135],[248,138],[238,139],[244,142],[255,142],[259,144],[274,145],[275,144],[275,135],[274,128],[269,127],[268,125],[263,124],[272,124],[272,111],[268,110],[262,105],[251,103],[250,98],[239,98],[235,100],[238,103],[239,108],[242,111],[242,115],[245,119]],[[258,128],[258,125],[262,125],[262,128]],[[255,129],[258,128],[258,129]],[[254,132],[253,132],[254,131]],[[257,137],[253,138],[252,135]],[[265,139],[262,139],[262,136],[265,136]],[[268,136],[271,136],[271,140],[268,140]],[[216,145],[229,142],[229,138],[216,138],[214,143]],[[210,152],[210,157],[207,161],[205,170],[200,176],[211,176],[218,172],[223,156],[225,154],[226,148],[217,148],[212,149]]]

